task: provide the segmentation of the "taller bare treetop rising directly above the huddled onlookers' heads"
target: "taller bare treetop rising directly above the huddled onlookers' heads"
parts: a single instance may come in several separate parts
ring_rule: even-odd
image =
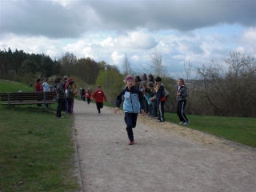
[[[167,67],[162,63],[162,54],[158,50],[151,55],[150,69],[155,76],[165,77],[167,74]]]

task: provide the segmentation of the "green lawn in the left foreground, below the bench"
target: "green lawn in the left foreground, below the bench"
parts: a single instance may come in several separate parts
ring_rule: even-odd
[[[0,106],[2,192],[78,190],[73,119],[42,108]]]

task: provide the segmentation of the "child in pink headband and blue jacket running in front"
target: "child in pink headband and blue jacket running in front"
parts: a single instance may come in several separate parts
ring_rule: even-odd
[[[134,86],[134,77],[128,75],[124,82],[126,83],[126,88],[117,97],[114,113],[119,110],[122,98],[124,98],[123,110],[125,111],[126,131],[130,140],[129,145],[133,145],[133,128],[136,126],[138,113],[141,111],[144,114],[144,98],[142,91]]]

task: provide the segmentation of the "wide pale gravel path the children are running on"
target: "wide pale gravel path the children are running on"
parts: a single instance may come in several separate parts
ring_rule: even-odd
[[[75,101],[74,113],[83,191],[256,189],[256,150],[140,114],[129,146],[122,111]]]

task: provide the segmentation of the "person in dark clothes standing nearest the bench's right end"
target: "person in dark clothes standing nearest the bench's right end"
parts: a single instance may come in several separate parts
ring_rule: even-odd
[[[57,83],[57,87],[56,87],[56,94],[57,94],[57,100],[58,100],[58,106],[56,109],[56,118],[63,118],[62,116],[62,101],[63,101],[63,97],[64,97],[64,89],[63,89],[63,85],[62,85],[62,78],[58,77],[55,79],[55,82]]]

